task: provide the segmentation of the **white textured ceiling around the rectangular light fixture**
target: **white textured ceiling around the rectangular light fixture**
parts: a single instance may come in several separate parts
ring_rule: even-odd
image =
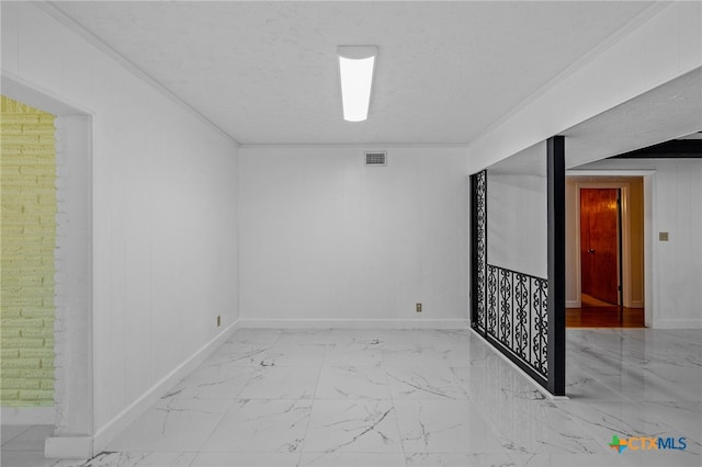
[[[644,2],[57,2],[242,144],[467,144]],[[344,122],[338,45],[380,54]]]

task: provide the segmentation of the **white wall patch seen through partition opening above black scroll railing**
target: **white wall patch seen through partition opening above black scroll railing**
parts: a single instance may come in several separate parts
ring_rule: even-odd
[[[547,278],[546,178],[487,173],[488,264]]]

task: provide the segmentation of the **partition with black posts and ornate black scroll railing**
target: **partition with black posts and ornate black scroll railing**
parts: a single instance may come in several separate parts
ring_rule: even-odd
[[[471,326],[565,395],[564,138],[471,175]]]

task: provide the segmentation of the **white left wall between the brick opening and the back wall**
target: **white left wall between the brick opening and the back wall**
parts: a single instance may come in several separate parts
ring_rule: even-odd
[[[2,3],[2,71],[93,117],[100,432],[238,318],[237,147],[32,4]]]

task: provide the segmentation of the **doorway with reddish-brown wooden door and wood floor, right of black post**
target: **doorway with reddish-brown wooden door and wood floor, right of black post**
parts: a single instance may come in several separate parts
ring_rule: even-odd
[[[566,180],[566,326],[644,327],[644,179]]]

